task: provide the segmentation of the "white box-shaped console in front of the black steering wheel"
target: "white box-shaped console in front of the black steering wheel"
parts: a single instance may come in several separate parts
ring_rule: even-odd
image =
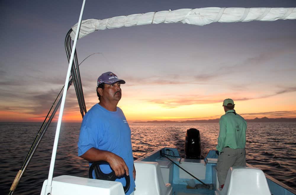
[[[43,182],[41,195],[45,194],[47,179]],[[52,178],[52,194],[54,195],[125,195],[122,184],[116,181],[104,181],[70,175]]]

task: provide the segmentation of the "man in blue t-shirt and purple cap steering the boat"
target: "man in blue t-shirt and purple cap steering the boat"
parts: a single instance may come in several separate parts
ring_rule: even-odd
[[[126,83],[112,72],[105,72],[98,78],[95,104],[83,117],[78,140],[78,156],[89,162],[107,161],[100,165],[104,173],[114,170],[115,175],[125,186],[125,173],[130,177],[127,195],[133,194],[136,170],[133,165],[131,129],[122,110],[117,107],[121,99],[120,84]],[[90,163],[91,165],[91,163]],[[131,176],[132,175],[132,176]]]

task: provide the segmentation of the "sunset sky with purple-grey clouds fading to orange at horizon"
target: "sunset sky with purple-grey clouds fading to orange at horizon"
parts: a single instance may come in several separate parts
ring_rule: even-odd
[[[82,1],[1,1],[0,121],[43,121],[65,83],[64,39]],[[296,7],[293,0],[86,1],[83,19],[201,7]],[[118,106],[129,122],[216,119],[237,113],[296,117],[296,21],[158,24],[97,31],[77,43],[86,108],[96,80],[124,79]],[[63,122],[81,122],[74,87]]]

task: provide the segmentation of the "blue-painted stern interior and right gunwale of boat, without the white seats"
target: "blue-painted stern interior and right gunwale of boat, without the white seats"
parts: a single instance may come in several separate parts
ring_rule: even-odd
[[[163,157],[161,153],[168,154],[168,157],[173,162],[183,167],[189,173],[200,179],[203,183],[213,184],[213,189],[194,188],[192,181],[194,181],[195,185],[199,184],[200,182],[189,174],[185,173],[177,165],[170,162],[169,159]],[[186,159],[180,157],[180,154],[176,148],[160,148],[144,157],[141,157],[137,161],[158,162],[163,173],[164,182],[170,183],[173,187],[173,192],[176,194],[179,194],[179,192],[183,192],[185,194],[215,194],[215,191],[219,188],[216,170],[217,159],[218,154],[215,150],[210,150],[207,153],[205,159]],[[247,166],[254,168],[249,164],[247,164]],[[271,194],[296,194],[294,189],[277,181],[269,175],[265,176]],[[190,183],[191,185],[189,185]]]

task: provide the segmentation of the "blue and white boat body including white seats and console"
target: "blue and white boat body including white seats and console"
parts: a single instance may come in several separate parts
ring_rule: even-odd
[[[262,170],[231,167],[223,189],[219,188],[215,150],[205,159],[180,157],[176,148],[159,148],[134,161],[136,188],[134,195],[293,195],[295,190],[265,175]],[[45,193],[47,180],[41,194]],[[120,182],[62,175],[53,178],[52,194],[124,195]]]

